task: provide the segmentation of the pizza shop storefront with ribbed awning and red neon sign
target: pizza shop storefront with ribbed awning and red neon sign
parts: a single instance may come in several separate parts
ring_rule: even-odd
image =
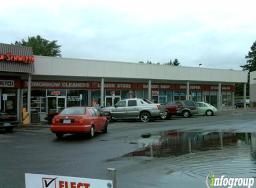
[[[0,44],[0,110],[21,120],[21,75],[34,73],[32,48]]]

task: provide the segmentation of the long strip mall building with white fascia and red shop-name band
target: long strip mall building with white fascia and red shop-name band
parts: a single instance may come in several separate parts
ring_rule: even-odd
[[[0,44],[0,108],[47,113],[69,106],[113,105],[124,98],[165,103],[191,99],[219,110],[234,108],[238,70],[33,56],[32,48]],[[30,114],[30,113],[29,113]]]

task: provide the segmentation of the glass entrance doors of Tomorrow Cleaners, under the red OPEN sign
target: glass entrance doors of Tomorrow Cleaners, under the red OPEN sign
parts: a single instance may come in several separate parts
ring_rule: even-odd
[[[67,107],[66,97],[47,97],[47,113],[60,112]]]

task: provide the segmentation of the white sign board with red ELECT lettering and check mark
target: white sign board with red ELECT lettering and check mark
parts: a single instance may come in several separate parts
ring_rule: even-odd
[[[112,180],[25,174],[25,188],[112,188]]]

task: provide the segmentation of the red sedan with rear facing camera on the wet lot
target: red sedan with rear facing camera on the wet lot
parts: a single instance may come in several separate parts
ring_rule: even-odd
[[[61,113],[52,119],[50,131],[61,139],[64,134],[89,133],[90,137],[94,132],[102,131],[107,133],[108,121],[104,114],[101,114],[94,107],[70,107],[65,108]]]

